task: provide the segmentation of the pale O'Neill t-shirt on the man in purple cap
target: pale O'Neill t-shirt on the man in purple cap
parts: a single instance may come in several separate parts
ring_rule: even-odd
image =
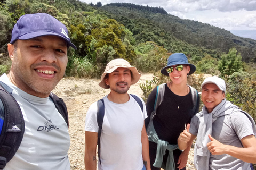
[[[4,170],[69,170],[70,138],[64,118],[53,102],[27,94],[3,74],[0,81],[13,89],[25,121],[21,145]]]

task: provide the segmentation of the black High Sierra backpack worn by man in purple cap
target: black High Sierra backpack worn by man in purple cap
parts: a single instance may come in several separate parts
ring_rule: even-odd
[[[0,169],[4,169],[17,152],[25,131],[20,106],[11,94],[12,89],[0,81],[0,113],[4,114],[0,134]],[[68,125],[68,111],[62,98],[53,93],[49,97]]]

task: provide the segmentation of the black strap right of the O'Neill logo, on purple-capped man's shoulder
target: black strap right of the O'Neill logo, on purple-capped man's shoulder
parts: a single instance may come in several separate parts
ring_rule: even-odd
[[[49,97],[53,101],[53,103],[54,103],[55,107],[57,108],[57,110],[59,111],[59,113],[64,118],[64,120],[67,123],[67,125],[69,126],[69,123],[68,123],[68,110],[67,110],[67,106],[64,103],[63,99],[59,98],[53,92],[51,92]]]

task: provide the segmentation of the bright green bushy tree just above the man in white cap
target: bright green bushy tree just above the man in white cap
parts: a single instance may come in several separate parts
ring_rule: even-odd
[[[218,64],[218,70],[222,75],[228,75],[228,77],[234,73],[243,71],[243,62],[240,53],[237,54],[236,48],[229,49],[228,54],[221,56],[221,60]]]

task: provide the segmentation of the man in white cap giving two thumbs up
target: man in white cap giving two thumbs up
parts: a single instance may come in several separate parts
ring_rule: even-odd
[[[256,163],[256,126],[252,117],[225,99],[223,79],[208,77],[201,87],[204,107],[180,134],[179,148],[186,149],[197,137],[196,169],[251,169],[250,163]]]

